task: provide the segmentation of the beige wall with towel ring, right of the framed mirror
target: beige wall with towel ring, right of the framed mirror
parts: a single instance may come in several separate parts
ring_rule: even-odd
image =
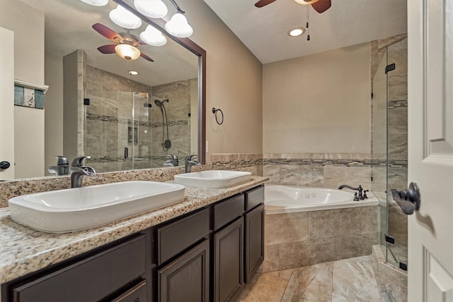
[[[181,0],[194,33],[207,52],[206,136],[209,154],[262,150],[262,64],[202,0]],[[219,126],[212,107],[222,109]],[[207,162],[210,155],[207,155]]]

